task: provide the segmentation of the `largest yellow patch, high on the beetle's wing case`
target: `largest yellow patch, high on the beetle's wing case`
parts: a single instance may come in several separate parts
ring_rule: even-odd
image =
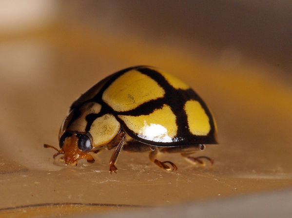
[[[136,70],[130,70],[115,80],[102,95],[111,108],[116,111],[135,109],[139,105],[161,98],[164,90],[155,80]]]

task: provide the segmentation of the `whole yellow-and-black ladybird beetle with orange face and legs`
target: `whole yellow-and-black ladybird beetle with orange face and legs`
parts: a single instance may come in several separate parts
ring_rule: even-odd
[[[156,67],[133,66],[120,70],[82,94],[70,107],[59,131],[59,146],[67,165],[77,165],[91,152],[114,149],[110,173],[116,172],[123,149],[149,152],[149,158],[165,170],[176,170],[157,153],[181,153],[189,161],[204,164],[190,154],[217,144],[216,124],[203,100],[188,85]],[[169,165],[170,166],[169,166]]]

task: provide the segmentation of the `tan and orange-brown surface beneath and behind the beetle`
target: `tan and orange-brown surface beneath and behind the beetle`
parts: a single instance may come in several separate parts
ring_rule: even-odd
[[[23,217],[27,211],[35,217],[73,216],[79,213],[75,203],[116,205],[106,207],[109,211],[123,204],[128,210],[292,187],[291,80],[277,68],[244,59],[231,67],[173,41],[145,44],[138,37],[129,40],[76,23],[1,35],[0,40],[1,216]],[[117,174],[109,174],[113,151],[95,155],[94,164],[81,160],[77,167],[53,160],[43,144],[58,145],[59,126],[71,103],[109,73],[138,64],[171,72],[208,103],[219,145],[207,145],[199,155],[214,158],[214,165],[203,168],[180,155],[161,155],[159,160],[178,167],[166,172],[147,154],[122,151]],[[38,204],[53,206],[31,206]],[[82,215],[94,207],[83,207]]]

